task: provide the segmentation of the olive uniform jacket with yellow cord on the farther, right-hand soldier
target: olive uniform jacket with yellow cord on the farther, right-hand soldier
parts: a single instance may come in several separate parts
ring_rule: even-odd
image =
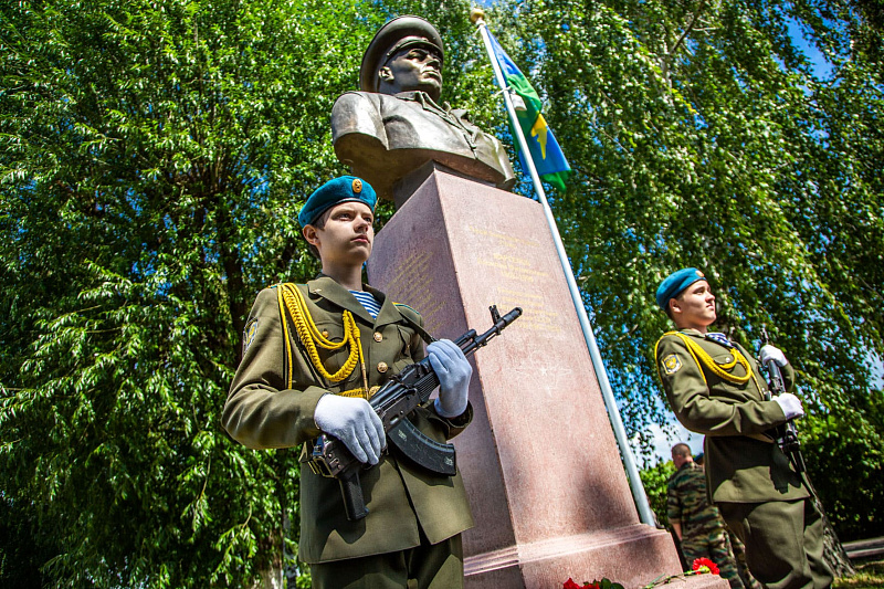
[[[688,341],[696,345],[695,350],[688,348]],[[706,435],[709,496],[716,503],[808,497],[789,459],[766,434],[785,423],[786,416],[776,401],[765,400],[767,383],[755,358],[734,346],[745,366],[736,361],[733,349],[696,329],[671,332],[656,343],[657,371],[672,410],[685,428]],[[787,390],[791,390],[794,369],[787,365],[781,371]]]

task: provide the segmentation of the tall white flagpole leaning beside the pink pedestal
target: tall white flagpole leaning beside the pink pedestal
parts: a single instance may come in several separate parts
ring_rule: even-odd
[[[644,485],[642,485],[642,480],[639,476],[639,469],[635,466],[635,459],[632,455],[632,449],[627,440],[627,432],[623,428],[623,419],[620,417],[620,410],[617,407],[617,400],[614,399],[613,391],[611,390],[611,383],[608,380],[608,372],[604,369],[604,362],[601,359],[599,346],[596,344],[596,336],[592,334],[592,327],[590,326],[589,318],[587,317],[587,311],[583,306],[583,299],[580,296],[580,290],[577,287],[577,281],[573,277],[571,263],[568,261],[568,254],[565,252],[565,245],[562,245],[561,236],[559,235],[556,218],[552,215],[552,209],[550,209],[549,202],[546,199],[546,192],[540,183],[540,177],[537,175],[537,168],[534,166],[534,160],[532,159],[527,141],[525,140],[525,135],[522,133],[522,127],[518,124],[516,109],[513,106],[513,98],[509,96],[509,86],[506,84],[506,80],[501,71],[501,66],[497,63],[497,57],[494,55],[494,49],[492,48],[491,39],[488,39],[488,31],[487,27],[485,25],[484,17],[485,11],[480,8],[474,8],[470,12],[470,20],[472,20],[473,23],[478,27],[480,33],[482,34],[482,41],[485,43],[485,51],[488,52],[491,65],[494,69],[494,77],[497,80],[497,84],[504,88],[504,103],[506,104],[506,111],[509,115],[509,120],[513,124],[516,140],[518,140],[519,149],[522,149],[522,152],[526,156],[524,159],[528,166],[528,172],[530,173],[532,181],[534,182],[534,189],[537,191],[538,200],[544,208],[547,225],[549,225],[549,231],[552,233],[552,240],[556,243],[556,251],[559,255],[559,262],[561,263],[561,269],[565,271],[565,276],[568,281],[568,291],[570,291],[571,301],[573,302],[575,309],[577,311],[577,317],[580,320],[580,328],[583,332],[583,339],[586,340],[587,348],[589,348],[589,356],[592,359],[592,367],[594,368],[596,376],[599,379],[599,388],[601,389],[602,398],[604,399],[604,407],[608,410],[608,418],[611,421],[611,427],[614,431],[614,438],[617,438],[617,443],[620,446],[620,454],[623,456],[623,463],[629,475],[630,487],[632,488],[632,497],[635,499],[635,505],[639,508],[642,523],[648,524],[649,526],[655,526],[654,514],[651,511],[651,505],[648,503],[648,495],[644,492]]]

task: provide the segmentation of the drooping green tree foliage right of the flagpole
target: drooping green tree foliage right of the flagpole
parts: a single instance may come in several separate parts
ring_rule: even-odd
[[[716,328],[757,349],[766,325],[798,368],[800,427],[867,448],[863,472],[881,466],[881,424],[860,408],[880,395],[884,357],[884,87],[880,63],[852,49],[873,30],[857,19],[828,2],[633,0],[507,2],[488,19],[532,72],[575,170],[551,207],[643,452],[648,424],[671,419],[654,291],[697,266],[718,297]],[[807,437],[808,451],[822,440]],[[827,477],[852,480],[832,467]],[[871,503],[877,491],[857,493]]]

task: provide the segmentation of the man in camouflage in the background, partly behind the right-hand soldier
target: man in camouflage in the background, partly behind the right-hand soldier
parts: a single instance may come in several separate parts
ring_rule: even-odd
[[[682,554],[688,566],[702,557],[718,565],[722,578],[732,589],[743,588],[737,562],[730,550],[725,523],[706,496],[706,475],[694,463],[687,444],[672,448],[672,461],[678,469],[666,486],[666,515],[682,540]]]

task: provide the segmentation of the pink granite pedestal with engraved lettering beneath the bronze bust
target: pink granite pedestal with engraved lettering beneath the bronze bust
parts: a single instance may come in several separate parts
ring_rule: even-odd
[[[639,520],[539,203],[435,170],[378,233],[368,274],[436,337],[484,332],[492,304],[524,311],[474,356],[475,418],[454,440],[476,519],[467,587],[629,589],[681,571],[670,535]]]

